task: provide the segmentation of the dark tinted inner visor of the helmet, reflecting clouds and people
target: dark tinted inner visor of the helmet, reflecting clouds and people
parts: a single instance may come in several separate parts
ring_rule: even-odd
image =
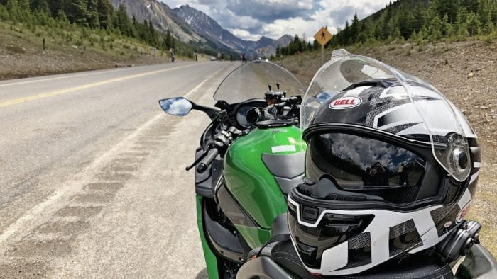
[[[307,177],[331,175],[344,190],[417,186],[425,160],[387,142],[349,134],[316,135],[307,146]]]

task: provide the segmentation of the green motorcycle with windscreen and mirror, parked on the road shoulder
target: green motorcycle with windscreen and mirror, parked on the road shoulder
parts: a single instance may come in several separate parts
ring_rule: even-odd
[[[215,108],[186,98],[159,101],[165,113],[202,110],[212,120],[187,167],[195,167],[209,278],[236,277],[249,252],[270,239],[273,220],[287,212],[287,194],[302,183],[305,145],[298,125],[304,93],[288,70],[258,60],[226,76],[214,93]]]

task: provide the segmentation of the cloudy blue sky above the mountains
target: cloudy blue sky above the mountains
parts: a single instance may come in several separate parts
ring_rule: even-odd
[[[354,13],[359,19],[384,8],[392,0],[160,0],[170,8],[188,4],[214,18],[222,28],[244,40],[266,36],[305,35],[307,40],[320,28],[330,33],[344,28]]]

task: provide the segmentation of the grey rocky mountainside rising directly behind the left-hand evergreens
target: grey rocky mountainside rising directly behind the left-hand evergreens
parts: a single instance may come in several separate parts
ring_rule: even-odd
[[[116,8],[124,4],[129,16],[136,17],[139,22],[152,21],[155,28],[162,32],[170,30],[173,35],[183,42],[194,42],[207,45],[207,40],[192,30],[190,26],[176,16],[168,5],[156,0],[111,0]]]

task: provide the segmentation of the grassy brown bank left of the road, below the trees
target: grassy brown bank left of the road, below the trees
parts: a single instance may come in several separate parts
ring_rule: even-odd
[[[158,51],[154,55],[141,42],[97,34],[85,37],[77,29],[53,33],[35,28],[32,32],[19,23],[0,22],[0,41],[0,80],[169,60],[168,53]]]

